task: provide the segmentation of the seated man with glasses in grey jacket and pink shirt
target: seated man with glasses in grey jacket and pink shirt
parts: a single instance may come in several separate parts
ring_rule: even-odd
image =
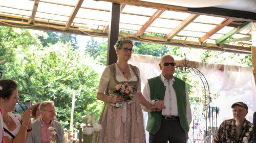
[[[32,131],[28,143],[63,142],[63,127],[55,121],[55,107],[52,101],[44,101],[39,105],[41,116],[32,122]]]

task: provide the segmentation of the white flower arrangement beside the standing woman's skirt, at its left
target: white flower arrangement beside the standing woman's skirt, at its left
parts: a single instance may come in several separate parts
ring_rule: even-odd
[[[102,129],[101,125],[98,123],[95,123],[95,115],[92,117],[87,114],[85,117],[83,117],[83,122],[80,124],[80,127],[83,128],[83,134],[91,135],[93,132],[98,132]]]

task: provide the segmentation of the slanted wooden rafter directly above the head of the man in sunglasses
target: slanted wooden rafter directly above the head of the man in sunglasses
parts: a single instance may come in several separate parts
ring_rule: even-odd
[[[193,22],[199,15],[190,14],[185,20],[183,20],[172,32],[165,36],[166,40],[171,40],[175,37],[180,31],[182,31],[189,23]]]

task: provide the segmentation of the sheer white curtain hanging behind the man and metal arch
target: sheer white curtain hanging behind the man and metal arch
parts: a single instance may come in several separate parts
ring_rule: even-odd
[[[151,55],[132,55],[129,63],[140,69],[142,91],[148,78],[160,75],[159,61],[160,58]],[[210,93],[221,95],[213,101],[220,108],[218,124],[232,118],[231,105],[237,101],[248,105],[249,113],[246,119],[252,121],[253,111],[256,111],[256,88],[252,68],[224,66],[224,71],[220,71],[221,65],[205,63],[199,63],[197,67],[208,81]],[[144,113],[145,125],[146,121],[147,113]],[[148,140],[148,133],[146,139]]]

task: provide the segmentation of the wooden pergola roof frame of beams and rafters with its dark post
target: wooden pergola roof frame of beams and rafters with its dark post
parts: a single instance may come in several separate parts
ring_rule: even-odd
[[[247,35],[247,37],[238,38],[238,39],[228,39],[228,38],[230,38],[232,35],[234,35],[236,33],[239,33],[244,28],[250,26],[251,22],[256,21],[256,13],[236,11],[236,10],[227,10],[227,9],[213,8],[213,7],[186,8],[186,7],[158,4],[158,3],[152,3],[152,2],[137,1],[137,0],[100,0],[100,1],[111,2],[112,10],[108,11],[108,10],[89,8],[89,7],[82,7],[83,0],[79,0],[75,6],[51,2],[51,4],[73,7],[73,11],[72,11],[71,15],[68,16],[69,17],[68,21],[51,22],[51,21],[47,21],[47,20],[35,19],[38,4],[39,3],[50,3],[50,2],[47,2],[44,0],[41,0],[41,1],[34,0],[34,6],[33,6],[31,16],[29,16],[29,17],[18,16],[18,15],[14,16],[12,13],[0,14],[0,25],[21,27],[21,28],[30,28],[30,29],[34,29],[34,30],[43,30],[43,31],[63,32],[63,33],[78,34],[78,35],[108,37],[109,38],[108,62],[107,62],[108,65],[115,63],[117,61],[114,44],[117,41],[118,37],[130,37],[131,39],[133,39],[135,41],[141,41],[141,42],[175,45],[175,46],[182,46],[182,47],[189,47],[189,48],[223,51],[223,52],[252,54],[251,47],[234,46],[234,45],[229,45],[229,44],[225,44],[225,43],[251,39],[250,35]],[[122,10],[124,9],[124,7],[126,5],[153,8],[153,9],[156,9],[156,11],[152,16],[150,16],[150,18],[143,25],[141,25],[141,28],[137,31],[137,33],[135,33],[135,34],[123,33],[123,32],[119,32],[120,13],[145,16],[145,15],[141,15],[141,14],[122,12]],[[111,15],[112,15],[111,20],[105,21],[108,24],[102,25],[104,27],[103,30],[98,30],[98,29],[88,30],[88,27],[86,27],[86,26],[74,25],[74,24],[72,24],[72,23],[74,23],[73,20],[76,17],[76,14],[80,8],[111,12]],[[151,24],[157,18],[159,18],[160,15],[164,11],[185,12],[185,13],[189,13],[190,15],[186,19],[181,21],[181,23],[176,28],[174,28],[167,35],[165,35],[165,37],[145,35],[145,30],[149,26],[151,26]],[[41,12],[41,13],[43,13],[43,12]],[[175,36],[177,36],[177,34],[180,31],[184,30],[184,28],[189,23],[194,22],[194,20],[201,14],[208,15],[208,16],[223,17],[225,19],[220,24],[215,24],[216,27],[212,28],[212,30],[210,30],[204,36],[199,38],[198,42],[173,39]],[[57,14],[55,14],[55,15],[57,15]],[[66,15],[59,15],[59,16],[66,16]],[[79,18],[79,17],[77,17],[77,18]],[[83,18],[81,18],[81,19],[83,19]],[[174,20],[177,20],[177,19],[174,19]],[[233,22],[235,20],[239,20],[239,21],[242,20],[243,22],[241,22],[240,24],[235,22],[236,24],[234,24]],[[207,41],[207,39],[209,39],[212,35],[216,34],[218,31],[220,31],[225,26],[232,26],[235,28],[234,28],[234,30],[225,34],[223,37],[217,39],[216,44],[205,43],[205,41]]]

